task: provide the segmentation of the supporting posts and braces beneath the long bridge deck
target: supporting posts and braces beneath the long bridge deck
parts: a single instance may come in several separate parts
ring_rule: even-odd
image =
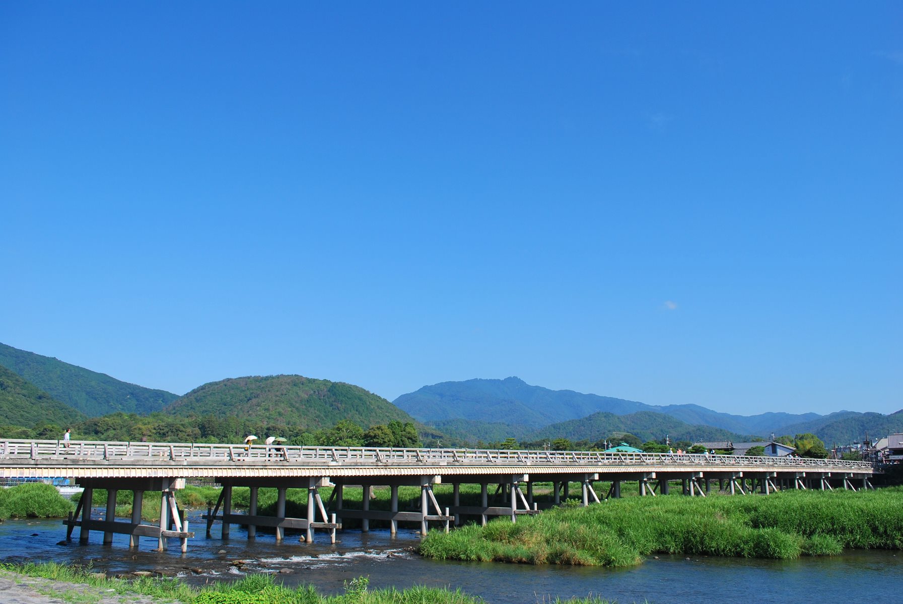
[[[467,520],[486,525],[490,517],[507,516],[517,522],[517,516],[538,514],[540,510],[558,506],[562,501],[577,497],[582,506],[601,503],[607,498],[621,497],[626,483],[636,488],[641,497],[668,495],[672,488],[680,488],[689,497],[706,497],[714,492],[731,495],[761,493],[768,495],[783,489],[833,490],[834,488],[859,490],[871,488],[870,476],[852,472],[738,472],[738,471],[664,471],[664,472],[570,472],[542,474],[458,474],[444,475],[398,475],[381,477],[333,478],[320,477],[247,477],[217,478],[222,489],[216,506],[208,508],[203,516],[206,520],[206,535],[212,537],[213,525],[219,522],[220,535],[228,539],[231,525],[247,527],[248,538],[255,538],[258,527],[275,532],[276,541],[283,541],[286,529],[298,531],[303,543],[312,543],[316,530],[330,534],[335,543],[337,531],[343,521],[359,521],[361,530],[368,531],[370,522],[388,525],[390,533],[396,534],[398,523],[412,523],[421,534],[426,534],[430,523],[439,525],[446,532],[450,525],[461,525]],[[93,519],[89,507],[79,506],[67,520],[67,538],[75,527],[79,527],[79,541],[86,543],[90,531],[104,533],[104,543],[112,542],[114,533],[129,534],[130,545],[137,546],[140,537],[151,537],[157,549],[166,548],[167,538],[178,538],[182,552],[187,550],[188,539],[194,537],[189,532],[184,512],[176,505],[175,491],[184,488],[185,479],[123,479],[123,478],[79,478],[79,486],[85,488],[82,501],[90,501],[94,489],[107,489],[106,517]],[[434,487],[452,485],[452,500],[447,494],[436,496]],[[541,489],[535,485],[541,484]],[[461,485],[479,486],[479,502],[461,504]],[[551,486],[551,488],[549,488]],[[247,514],[233,511],[233,488],[250,489]],[[346,505],[345,488],[361,488],[363,494],[360,507]],[[420,487],[418,501],[406,501],[405,509],[399,508],[398,488]],[[257,514],[257,496],[260,488],[275,488],[277,499],[274,514]],[[286,491],[289,488],[306,489],[306,517],[286,516]],[[324,501],[321,488],[331,488],[330,498]],[[375,488],[389,488],[389,509],[371,509],[370,504]],[[573,490],[572,490],[573,489]],[[116,491],[131,490],[134,505],[131,522],[115,520]],[[155,525],[142,524],[141,503],[145,492],[161,493],[161,516]],[[442,506],[440,498],[446,499]],[[79,513],[81,517],[79,518]]]

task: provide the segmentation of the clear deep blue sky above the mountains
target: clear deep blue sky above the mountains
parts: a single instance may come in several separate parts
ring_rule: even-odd
[[[903,408],[903,5],[0,5],[0,341]]]

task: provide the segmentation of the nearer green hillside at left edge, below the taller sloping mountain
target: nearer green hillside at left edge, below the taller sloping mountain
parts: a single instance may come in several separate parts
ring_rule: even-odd
[[[37,423],[65,426],[85,415],[22,377],[0,366],[0,424],[32,427]],[[61,435],[59,435],[61,436]]]

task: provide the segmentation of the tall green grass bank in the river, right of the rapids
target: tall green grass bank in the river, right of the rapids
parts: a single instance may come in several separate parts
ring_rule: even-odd
[[[748,558],[903,549],[903,488],[763,496],[631,497],[563,507],[450,534],[420,552],[441,560],[630,566],[686,553]]]

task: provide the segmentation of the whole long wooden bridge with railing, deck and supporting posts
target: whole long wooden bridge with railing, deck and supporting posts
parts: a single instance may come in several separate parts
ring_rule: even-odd
[[[212,525],[222,523],[222,537],[229,526],[247,525],[248,537],[257,526],[275,528],[276,540],[284,539],[284,529],[300,529],[302,540],[311,543],[315,529],[326,530],[335,542],[342,519],[358,518],[367,531],[370,520],[389,522],[396,534],[399,522],[419,523],[426,534],[429,522],[459,524],[461,516],[476,516],[486,524],[489,516],[536,514],[534,484],[552,483],[552,495],[544,505],[558,505],[567,498],[572,483],[581,486],[582,505],[599,503],[606,497],[620,497],[621,484],[636,482],[641,496],[667,494],[670,483],[680,481],[685,495],[705,497],[712,481],[731,495],[759,491],[765,495],[780,488],[833,489],[870,488],[873,469],[865,461],[809,460],[786,457],[741,457],[733,455],[671,453],[603,453],[596,451],[493,451],[474,449],[383,449],[361,447],[293,447],[283,445],[201,444],[170,442],[0,441],[0,478],[72,479],[83,487],[74,514],[63,521],[67,538],[79,526],[79,540],[88,541],[91,530],[104,533],[104,543],[113,534],[131,535],[137,546],[141,536],[157,539],[159,549],[166,538],[180,539],[182,552],[188,530],[175,491],[187,480],[213,480],[222,485],[219,502],[208,510],[207,535]],[[599,497],[597,481],[610,482],[607,495]],[[452,484],[452,506],[440,507],[433,485]],[[461,506],[461,484],[480,486],[480,505]],[[364,489],[360,509],[344,506],[343,488]],[[489,485],[501,501],[489,505]],[[334,487],[328,502],[319,488]],[[389,510],[369,509],[372,488],[391,488]],[[421,488],[420,509],[398,509],[398,488]],[[232,512],[232,488],[249,487],[247,515]],[[277,489],[275,516],[257,515],[257,489]],[[91,518],[90,502],[95,488],[107,489],[106,517]],[[285,516],[287,488],[306,488],[307,517]],[[131,522],[116,521],[116,491],[132,490]],[[157,525],[141,522],[144,492],[161,492]],[[80,514],[80,518],[79,518]]]

